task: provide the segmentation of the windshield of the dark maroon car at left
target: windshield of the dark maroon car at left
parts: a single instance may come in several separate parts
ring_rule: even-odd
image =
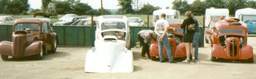
[[[36,23],[20,23],[15,25],[15,31],[26,30],[26,28],[29,30],[39,30],[39,26],[40,25]]]

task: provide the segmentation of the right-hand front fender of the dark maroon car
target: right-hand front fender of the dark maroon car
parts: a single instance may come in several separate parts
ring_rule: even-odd
[[[43,41],[34,41],[31,44],[29,44],[26,47],[25,50],[25,56],[33,55],[33,54],[38,54],[41,51],[41,46],[43,46]]]

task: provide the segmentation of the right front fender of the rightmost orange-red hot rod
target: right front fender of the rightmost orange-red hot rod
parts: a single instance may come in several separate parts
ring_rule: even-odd
[[[253,57],[253,47],[252,46],[244,46],[241,48],[240,58],[239,59],[248,59]]]

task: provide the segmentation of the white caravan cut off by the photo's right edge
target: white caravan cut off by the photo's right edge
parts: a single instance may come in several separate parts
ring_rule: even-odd
[[[246,21],[248,19],[256,18],[256,9],[253,8],[243,8],[236,10],[236,18],[239,18],[241,21]]]

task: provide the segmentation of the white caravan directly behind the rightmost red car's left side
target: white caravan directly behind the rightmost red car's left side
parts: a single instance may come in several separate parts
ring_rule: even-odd
[[[205,27],[208,27],[211,20],[220,20],[221,16],[229,18],[229,10],[227,8],[207,8],[205,11]]]

